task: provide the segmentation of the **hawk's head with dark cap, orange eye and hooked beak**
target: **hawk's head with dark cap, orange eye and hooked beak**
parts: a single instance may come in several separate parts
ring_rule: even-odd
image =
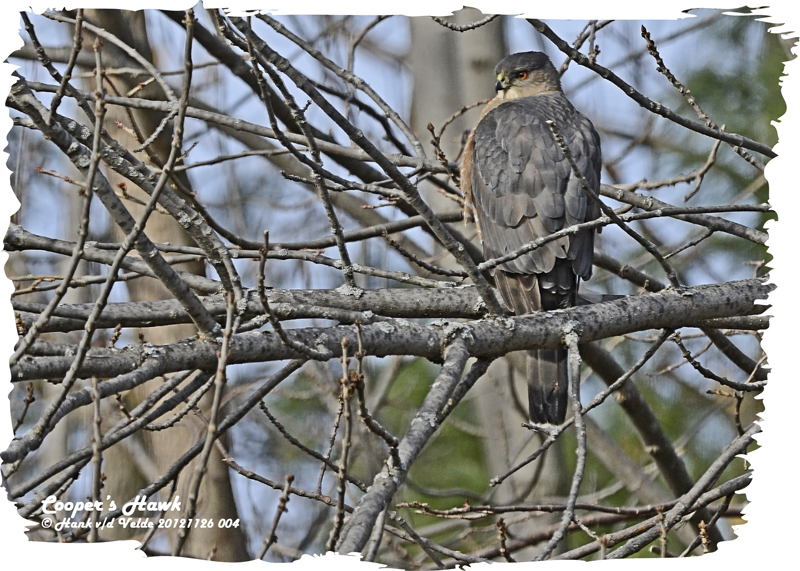
[[[517,99],[538,93],[561,91],[561,80],[542,52],[521,52],[503,58],[494,68],[499,99]]]

